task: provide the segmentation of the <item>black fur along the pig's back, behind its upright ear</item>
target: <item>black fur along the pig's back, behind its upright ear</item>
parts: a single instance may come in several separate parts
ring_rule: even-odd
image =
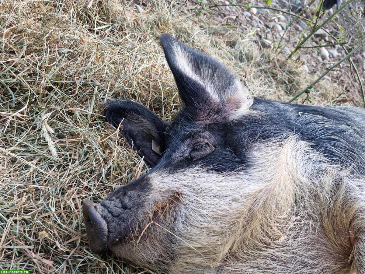
[[[252,117],[250,121],[242,121],[248,127],[243,129],[248,140],[251,135],[265,140],[285,138],[287,133],[295,133],[299,140],[308,141],[312,148],[334,164],[365,174],[365,129],[349,113],[340,108],[279,103],[260,98],[255,99],[252,109],[265,115],[260,120]],[[365,119],[364,115],[362,117]],[[254,134],[252,131],[255,130],[260,134]]]

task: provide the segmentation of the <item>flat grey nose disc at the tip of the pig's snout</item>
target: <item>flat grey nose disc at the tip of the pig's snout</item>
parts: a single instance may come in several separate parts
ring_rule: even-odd
[[[96,212],[95,203],[89,200],[82,202],[82,214],[86,232],[91,245],[91,250],[95,253],[102,253],[107,249],[108,228],[107,223]]]

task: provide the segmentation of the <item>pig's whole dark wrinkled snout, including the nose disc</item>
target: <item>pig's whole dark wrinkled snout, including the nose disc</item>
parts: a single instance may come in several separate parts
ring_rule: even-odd
[[[148,180],[139,178],[108,195],[101,203],[82,202],[87,237],[95,253],[104,253],[125,241],[146,218]]]

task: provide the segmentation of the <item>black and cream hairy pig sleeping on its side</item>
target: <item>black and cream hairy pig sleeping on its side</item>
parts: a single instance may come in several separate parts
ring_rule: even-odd
[[[172,122],[111,100],[151,169],[83,201],[91,251],[162,273],[365,273],[365,110],[253,98],[220,62],[161,35]]]

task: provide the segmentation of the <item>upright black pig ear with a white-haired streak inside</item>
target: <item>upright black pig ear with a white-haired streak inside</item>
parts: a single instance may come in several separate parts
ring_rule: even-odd
[[[214,110],[234,117],[251,106],[249,90],[224,65],[168,34],[161,35],[160,41],[180,98],[200,112],[197,117],[207,118]]]

